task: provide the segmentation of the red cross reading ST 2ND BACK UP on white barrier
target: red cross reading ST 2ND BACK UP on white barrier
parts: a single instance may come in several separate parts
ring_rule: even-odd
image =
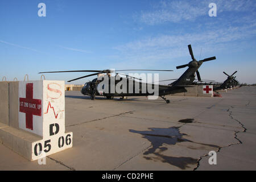
[[[26,84],[26,98],[19,98],[19,111],[26,113],[26,128],[33,130],[33,115],[42,115],[42,100],[33,98],[33,84]]]

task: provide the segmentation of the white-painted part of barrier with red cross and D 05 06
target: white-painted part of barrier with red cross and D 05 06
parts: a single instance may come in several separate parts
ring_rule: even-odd
[[[64,81],[19,82],[19,128],[43,137],[32,143],[32,160],[72,147],[73,134],[65,134],[64,86]]]

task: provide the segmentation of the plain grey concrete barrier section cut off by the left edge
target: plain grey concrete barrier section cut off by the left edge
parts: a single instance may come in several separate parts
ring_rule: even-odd
[[[9,86],[7,81],[0,82],[0,122],[9,125]]]

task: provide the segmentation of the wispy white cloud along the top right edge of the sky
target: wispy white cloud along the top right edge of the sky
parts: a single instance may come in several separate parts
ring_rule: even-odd
[[[217,5],[217,15],[226,11],[254,12],[256,9],[255,1],[160,1],[153,6],[153,10],[142,11],[137,18],[149,25],[195,21],[200,16],[208,16],[208,5],[211,2]]]

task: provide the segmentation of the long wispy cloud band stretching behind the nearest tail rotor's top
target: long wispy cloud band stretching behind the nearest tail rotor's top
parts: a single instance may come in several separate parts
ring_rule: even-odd
[[[175,60],[188,53],[188,44],[192,44],[196,59],[200,59],[200,49],[205,55],[220,50],[228,50],[229,44],[256,35],[256,23],[243,27],[229,26],[192,34],[161,35],[129,42],[114,47],[119,51],[120,59],[130,63],[151,63]],[[201,57],[203,59],[203,57]]]

